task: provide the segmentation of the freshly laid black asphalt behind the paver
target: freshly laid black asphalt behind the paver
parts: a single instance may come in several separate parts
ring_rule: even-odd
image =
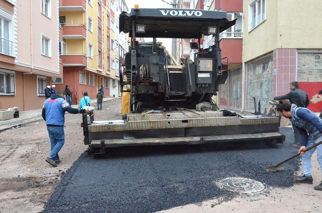
[[[291,128],[282,145],[233,143],[115,148],[103,157],[84,153],[63,176],[44,212],[155,212],[207,199],[230,200],[236,193],[215,182],[244,177],[290,187],[299,159],[284,170],[265,167],[297,153]]]

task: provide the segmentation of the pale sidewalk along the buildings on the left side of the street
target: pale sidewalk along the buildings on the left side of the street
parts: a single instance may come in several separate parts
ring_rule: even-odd
[[[103,102],[118,99],[118,97],[104,97]],[[91,99],[91,105],[96,106],[97,99]],[[78,108],[78,105],[71,105],[72,108]],[[19,109],[18,109],[19,110]],[[13,118],[6,121],[0,121],[0,131],[11,129],[16,126],[28,124],[42,119],[42,109],[20,111],[19,118]]]

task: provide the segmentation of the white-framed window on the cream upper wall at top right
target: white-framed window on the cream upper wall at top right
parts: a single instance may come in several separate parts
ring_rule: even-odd
[[[252,30],[265,21],[266,1],[253,0],[249,5],[249,29]]]

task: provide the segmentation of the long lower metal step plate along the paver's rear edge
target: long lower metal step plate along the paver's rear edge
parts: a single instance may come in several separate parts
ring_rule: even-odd
[[[105,139],[93,140],[90,144],[93,148],[108,148],[121,146],[148,146],[148,145],[170,145],[170,144],[204,144],[219,142],[239,142],[252,140],[285,140],[281,133],[261,133],[261,134],[239,134],[239,135],[220,135],[205,137],[175,137],[175,138],[140,138],[140,139]]]

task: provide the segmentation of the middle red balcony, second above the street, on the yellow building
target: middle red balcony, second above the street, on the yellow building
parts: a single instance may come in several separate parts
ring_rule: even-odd
[[[82,23],[61,24],[64,39],[86,39],[86,26]]]

